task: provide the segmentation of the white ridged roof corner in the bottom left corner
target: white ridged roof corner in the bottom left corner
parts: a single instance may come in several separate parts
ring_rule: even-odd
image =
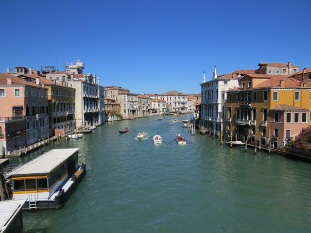
[[[27,199],[0,201],[0,232],[6,230],[26,200]]]

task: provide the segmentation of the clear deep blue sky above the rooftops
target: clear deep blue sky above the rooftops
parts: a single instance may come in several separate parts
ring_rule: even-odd
[[[0,72],[77,59],[101,85],[200,93],[259,62],[311,67],[310,0],[0,0]]]

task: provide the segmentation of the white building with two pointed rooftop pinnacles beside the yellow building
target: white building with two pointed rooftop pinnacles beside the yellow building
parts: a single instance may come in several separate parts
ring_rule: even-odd
[[[226,91],[229,88],[238,87],[239,80],[247,73],[254,73],[254,69],[235,70],[231,73],[217,76],[216,67],[212,80],[206,81],[203,72],[203,82],[201,85],[201,121],[204,126],[213,133],[225,132],[225,102]]]

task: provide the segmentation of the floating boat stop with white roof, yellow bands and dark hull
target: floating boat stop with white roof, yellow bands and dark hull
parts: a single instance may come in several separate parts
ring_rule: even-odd
[[[86,174],[86,165],[78,165],[78,150],[49,150],[9,172],[13,200],[27,199],[23,210],[61,208]]]

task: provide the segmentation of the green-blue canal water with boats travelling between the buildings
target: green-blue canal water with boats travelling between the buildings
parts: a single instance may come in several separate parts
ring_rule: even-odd
[[[63,141],[59,148],[80,148],[86,177],[62,209],[24,212],[24,231],[311,232],[310,164],[230,149],[208,135],[191,136],[174,116],[156,118],[114,122]],[[126,124],[129,132],[118,133]],[[145,140],[135,139],[140,131]],[[187,145],[175,143],[177,133]],[[162,135],[162,145],[153,144],[154,134]]]

